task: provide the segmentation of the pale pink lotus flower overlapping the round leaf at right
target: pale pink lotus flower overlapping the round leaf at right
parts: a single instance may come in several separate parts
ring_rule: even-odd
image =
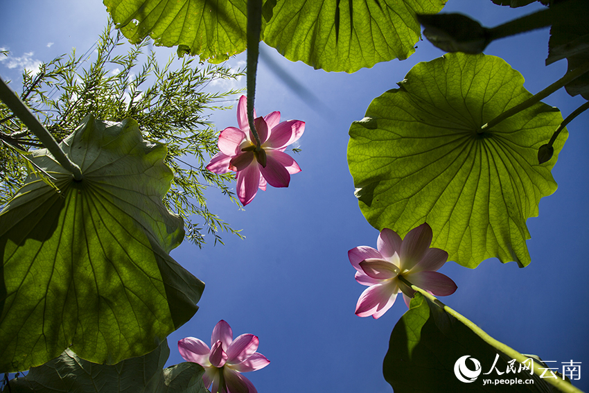
[[[425,223],[412,229],[403,240],[391,229],[383,229],[376,241],[378,250],[364,245],[349,250],[350,262],[358,270],[356,281],[369,286],[360,295],[355,314],[377,319],[391,308],[399,290],[409,307],[415,291],[399,277],[433,295],[452,295],[456,284],[436,271],[446,263],[448,253],[430,248],[431,243],[432,228]]]

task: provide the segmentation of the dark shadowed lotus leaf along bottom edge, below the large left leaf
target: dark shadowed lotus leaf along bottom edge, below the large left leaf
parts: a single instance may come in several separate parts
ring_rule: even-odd
[[[186,362],[162,369],[169,355],[166,340],[145,356],[116,365],[91,363],[66,349],[58,358],[30,369],[26,377],[12,379],[10,392],[208,393],[200,365]]]

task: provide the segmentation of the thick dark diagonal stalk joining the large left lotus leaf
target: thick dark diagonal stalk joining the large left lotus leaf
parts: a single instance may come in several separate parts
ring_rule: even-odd
[[[53,135],[49,133],[49,131],[44,127],[44,125],[35,117],[33,112],[30,112],[28,107],[21,101],[19,96],[15,94],[14,91],[6,85],[4,80],[0,78],[0,98],[6,104],[10,110],[28,127],[30,132],[35,134],[35,137],[43,143],[43,146],[51,155],[55,157],[55,159],[60,163],[60,165],[70,173],[73,174],[73,178],[77,181],[83,179],[82,170],[78,165],[73,163],[69,157],[64,153],[64,151],[60,148],[59,144],[53,138]]]

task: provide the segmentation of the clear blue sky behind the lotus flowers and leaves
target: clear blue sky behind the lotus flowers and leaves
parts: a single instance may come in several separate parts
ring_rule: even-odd
[[[495,26],[536,8],[450,0],[445,11],[460,11],[484,26]],[[0,76],[15,82],[22,67],[35,67],[35,61],[49,61],[72,47],[84,53],[107,21],[98,0],[3,1],[1,9],[5,20],[0,47],[10,50],[10,58],[0,60]],[[548,37],[547,29],[510,37],[491,43],[485,53],[504,58],[536,93],[565,73],[565,61],[544,66]],[[347,251],[358,245],[376,247],[378,231],[364,219],[353,195],[346,146],[349,125],[364,117],[373,98],[395,88],[417,62],[443,54],[427,41],[417,45],[416,53],[403,62],[381,63],[351,75],[313,70],[263,47],[323,106],[293,94],[263,62],[258,66],[258,115],[279,110],[282,119],[306,121],[299,140],[302,152],[294,157],[302,171],[292,176],[288,189],[268,187],[245,209],[209,190],[211,211],[243,229],[247,239],[225,234],[225,246],[210,244],[199,250],[185,242],[173,251],[206,288],[200,311],[168,337],[168,365],[184,361],[177,340],[193,336],[208,343],[213,326],[224,319],[235,335],[258,335],[258,351],[271,361],[265,369],[246,374],[260,393],[392,391],[383,378],[382,362],[389,335],[407,308],[396,302],[378,320],[354,315],[365,287],[353,279]],[[158,49],[162,61],[174,52]],[[245,54],[229,64],[243,60]],[[562,90],[544,102],[566,116],[583,99]],[[218,130],[236,125],[233,110],[216,112],[212,119]],[[451,261],[440,270],[458,286],[443,302],[514,349],[556,361],[554,367],[581,362],[576,385],[583,390],[589,390],[583,369],[589,367],[588,126],[587,112],[570,124],[568,141],[552,171],[559,189],[540,202],[538,218],[527,221],[532,236],[527,268],[489,259],[475,270]]]

